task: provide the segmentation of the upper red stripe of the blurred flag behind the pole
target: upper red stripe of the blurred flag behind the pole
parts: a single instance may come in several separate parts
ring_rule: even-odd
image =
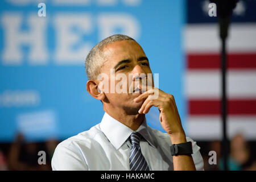
[[[188,69],[219,69],[220,55],[217,53],[187,55]],[[229,69],[255,69],[256,53],[229,53]]]

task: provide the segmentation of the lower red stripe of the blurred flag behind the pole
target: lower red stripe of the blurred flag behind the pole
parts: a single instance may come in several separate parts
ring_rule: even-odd
[[[189,115],[221,114],[220,100],[189,100]],[[256,115],[256,100],[228,100],[228,114]]]

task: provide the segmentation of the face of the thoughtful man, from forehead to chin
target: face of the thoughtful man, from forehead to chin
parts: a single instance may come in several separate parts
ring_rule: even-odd
[[[113,82],[117,85],[118,82],[120,83],[123,81],[122,79],[115,79],[118,75],[125,75],[127,78],[125,81],[125,93],[117,93],[116,90],[114,93],[105,93],[109,104],[114,107],[123,107],[123,109],[129,110],[130,113],[138,114],[138,110],[141,108],[143,101],[136,103],[133,100],[141,93],[130,92],[129,88],[131,87],[131,84],[133,84],[135,89],[135,78],[138,78],[138,75],[141,75],[141,73],[144,73],[146,76],[148,76],[148,73],[152,74],[148,59],[142,47],[133,40],[122,40],[110,43],[104,47],[103,55],[106,61],[101,67],[101,73],[106,73],[106,75],[108,75],[109,88]],[[110,69],[114,69],[112,77],[110,76]],[[113,74],[115,78],[113,78]],[[112,80],[112,82],[110,80]],[[148,77],[146,80],[148,80]],[[139,82],[141,83],[141,81]],[[138,83],[138,80],[136,80],[136,82]],[[153,80],[152,86],[154,86]]]

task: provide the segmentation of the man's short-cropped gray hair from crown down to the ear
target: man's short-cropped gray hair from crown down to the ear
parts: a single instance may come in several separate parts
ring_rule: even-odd
[[[100,74],[100,67],[102,63],[104,63],[104,59],[102,56],[103,48],[110,43],[121,41],[121,40],[135,41],[133,38],[130,38],[127,35],[115,34],[101,40],[101,42],[96,44],[96,46],[94,46],[90,50],[85,60],[85,71],[86,71],[88,80],[96,79],[98,74]]]

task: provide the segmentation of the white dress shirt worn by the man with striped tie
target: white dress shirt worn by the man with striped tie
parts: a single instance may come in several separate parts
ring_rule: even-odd
[[[173,170],[168,134],[147,126],[146,118],[138,133],[142,135],[141,151],[150,170]],[[59,143],[52,157],[53,170],[130,170],[129,137],[133,133],[126,125],[104,114],[101,123]],[[191,138],[192,158],[197,170],[203,170],[200,147]]]

